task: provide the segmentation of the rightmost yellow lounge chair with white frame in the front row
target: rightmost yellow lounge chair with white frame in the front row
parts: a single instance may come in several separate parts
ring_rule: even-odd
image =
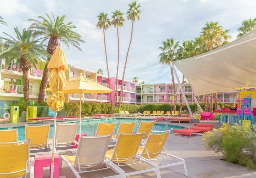
[[[158,165],[159,169],[183,164],[185,175],[187,176],[187,168],[186,168],[185,160],[182,158],[176,157],[174,155],[168,154],[166,151],[165,142],[168,136],[170,135],[171,131],[172,129],[168,131],[152,131],[148,136],[148,138],[146,139],[144,146],[140,146],[139,154],[141,158],[148,161],[154,161],[154,160],[160,160],[160,159],[178,160],[180,162],[169,163],[170,161],[161,161],[161,163],[167,163],[167,164]],[[159,154],[165,155],[165,157],[157,158]]]

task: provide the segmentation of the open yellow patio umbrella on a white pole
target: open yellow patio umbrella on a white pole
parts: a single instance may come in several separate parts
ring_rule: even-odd
[[[50,88],[45,89],[46,91],[52,92]],[[63,93],[72,94],[72,93],[80,93],[80,126],[79,126],[79,137],[81,136],[81,108],[82,108],[82,93],[111,93],[111,90],[108,87],[105,87],[101,84],[98,84],[94,80],[89,78],[85,78],[80,73],[80,76],[75,77],[73,79],[67,80],[67,83],[64,87]]]

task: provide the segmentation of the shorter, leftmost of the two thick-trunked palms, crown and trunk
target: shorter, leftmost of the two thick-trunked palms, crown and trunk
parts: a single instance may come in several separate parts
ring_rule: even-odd
[[[40,39],[33,39],[32,30],[23,29],[22,33],[18,28],[14,28],[16,38],[4,33],[9,36],[8,38],[3,38],[5,40],[5,51],[3,51],[0,58],[6,58],[7,63],[12,62],[14,59],[20,60],[20,68],[23,72],[23,93],[24,93],[24,102],[29,104],[29,78],[28,72],[32,67],[31,64],[35,67],[37,61],[45,61],[45,56],[47,53],[44,49],[44,45],[41,45]],[[35,67],[36,68],[36,67]]]

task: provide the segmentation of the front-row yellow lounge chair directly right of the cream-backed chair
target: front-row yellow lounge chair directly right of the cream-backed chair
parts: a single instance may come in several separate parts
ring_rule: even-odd
[[[123,177],[147,173],[147,172],[156,172],[157,177],[160,178],[160,171],[159,171],[158,165],[156,165],[155,163],[153,163],[151,161],[140,159],[140,155],[138,154],[138,149],[140,147],[144,133],[145,132],[133,133],[133,134],[120,133],[117,138],[115,147],[106,152],[106,158],[109,159],[113,163],[117,163],[117,165],[113,164],[115,166],[119,166],[119,167],[129,166],[129,165],[139,164],[139,163],[143,163],[143,162],[145,162],[151,166],[154,166],[153,168],[137,170],[134,172],[130,172],[130,171],[125,172],[122,169],[123,173],[124,173]],[[136,162],[120,165],[120,163],[126,163],[127,161],[129,161],[131,159],[134,159],[134,161],[136,161]]]

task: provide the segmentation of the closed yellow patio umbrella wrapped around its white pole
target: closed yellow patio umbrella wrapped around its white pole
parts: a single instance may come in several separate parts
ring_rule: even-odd
[[[65,97],[63,94],[63,89],[66,84],[65,71],[68,70],[68,65],[65,59],[65,55],[61,48],[61,43],[58,44],[58,48],[55,50],[51,60],[49,61],[47,68],[51,70],[49,76],[49,85],[52,91],[52,94],[49,95],[46,100],[49,108],[54,113],[54,129],[53,129],[53,150],[52,150],[52,167],[54,167],[54,153],[55,150],[55,137],[56,137],[56,117],[57,112],[63,108]],[[51,178],[53,177],[53,169],[51,171]]]

